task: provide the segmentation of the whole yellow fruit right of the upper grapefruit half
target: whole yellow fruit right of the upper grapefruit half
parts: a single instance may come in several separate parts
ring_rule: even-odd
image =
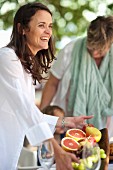
[[[99,129],[97,129],[95,127],[87,126],[86,127],[86,136],[94,137],[96,142],[99,142],[102,137],[102,134]]]

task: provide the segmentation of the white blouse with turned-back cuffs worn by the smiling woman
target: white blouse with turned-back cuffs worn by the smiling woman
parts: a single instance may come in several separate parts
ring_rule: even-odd
[[[16,170],[25,134],[32,145],[39,145],[53,137],[57,120],[35,106],[32,77],[24,71],[14,50],[1,48],[0,170]]]

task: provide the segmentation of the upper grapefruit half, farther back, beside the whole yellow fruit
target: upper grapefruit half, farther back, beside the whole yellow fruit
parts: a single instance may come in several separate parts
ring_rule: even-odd
[[[86,134],[80,129],[69,129],[66,132],[66,136],[71,137],[75,139],[76,141],[79,141],[81,139],[84,139],[86,137]]]

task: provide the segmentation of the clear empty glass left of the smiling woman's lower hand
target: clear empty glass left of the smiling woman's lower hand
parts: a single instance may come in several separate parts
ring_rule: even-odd
[[[50,140],[42,142],[38,147],[38,158],[44,170],[50,170],[54,164],[54,149]]]

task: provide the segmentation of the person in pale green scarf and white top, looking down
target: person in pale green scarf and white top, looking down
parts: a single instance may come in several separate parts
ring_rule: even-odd
[[[87,123],[113,136],[113,16],[98,16],[87,36],[58,54],[42,93],[40,109],[58,105],[66,116],[94,114]]]

